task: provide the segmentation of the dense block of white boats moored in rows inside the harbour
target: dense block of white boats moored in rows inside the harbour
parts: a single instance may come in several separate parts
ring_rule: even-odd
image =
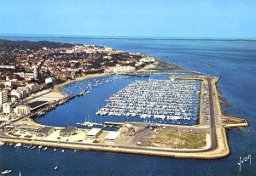
[[[196,119],[200,82],[188,80],[136,81],[106,101],[96,115],[139,116],[162,120]]]

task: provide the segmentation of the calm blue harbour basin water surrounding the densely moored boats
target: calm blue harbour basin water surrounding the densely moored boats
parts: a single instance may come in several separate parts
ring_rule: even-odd
[[[108,76],[108,77],[99,77],[89,80],[84,80],[82,82],[74,82],[65,88],[62,88],[62,91],[68,94],[78,94],[84,89],[90,90],[90,94],[84,95],[76,99],[72,99],[65,105],[56,108],[54,111],[50,111],[45,116],[38,117],[36,120],[40,123],[53,125],[53,126],[63,126],[67,127],[68,125],[77,126],[78,128],[83,128],[80,125],[77,125],[77,122],[125,122],[125,121],[136,121],[136,122],[162,122],[162,123],[172,123],[180,122],[181,124],[195,125],[196,119],[191,120],[180,120],[180,121],[169,121],[151,118],[140,118],[139,116],[129,117],[129,116],[96,116],[96,111],[99,111],[102,107],[107,105],[106,99],[109,99],[110,96],[115,94],[122,88],[125,88],[131,82],[137,80],[148,81],[148,79],[162,79],[166,80],[168,77],[174,77],[180,74],[167,74],[167,75],[151,75],[150,77],[128,77],[128,76]],[[97,82],[97,83],[96,83]],[[197,82],[197,88],[200,90],[200,82]],[[199,100],[199,95],[195,97]],[[199,107],[199,102],[197,104]],[[72,112],[72,113],[70,113]],[[198,110],[195,110],[196,117]]]

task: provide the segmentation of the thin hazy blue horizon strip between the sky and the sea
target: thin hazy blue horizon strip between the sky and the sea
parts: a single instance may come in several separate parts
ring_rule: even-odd
[[[256,42],[256,38],[241,37],[146,37],[146,36],[82,36],[82,35],[49,35],[49,34],[0,34],[2,38],[20,37],[20,38],[77,38],[77,39],[113,39],[113,40],[198,40],[198,41],[252,41]]]

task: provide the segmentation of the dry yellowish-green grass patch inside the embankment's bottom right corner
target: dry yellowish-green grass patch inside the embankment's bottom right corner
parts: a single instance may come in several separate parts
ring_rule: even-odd
[[[150,139],[150,146],[177,149],[199,149],[207,145],[206,132],[184,132],[159,129]]]

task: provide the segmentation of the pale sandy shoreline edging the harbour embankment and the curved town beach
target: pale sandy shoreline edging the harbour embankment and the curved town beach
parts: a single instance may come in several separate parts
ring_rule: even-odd
[[[157,65],[154,65],[155,68]],[[152,68],[152,67],[151,67]],[[155,69],[154,68],[154,69]],[[195,158],[195,159],[216,159],[221,158],[224,156],[230,155],[230,146],[229,141],[227,139],[227,133],[226,133],[226,127],[227,125],[224,125],[223,122],[221,122],[221,119],[224,117],[221,111],[220,102],[218,99],[218,96],[214,96],[215,93],[218,93],[217,89],[217,82],[218,77],[207,77],[207,76],[201,76],[198,74],[201,74],[198,71],[160,71],[160,70],[145,70],[144,68],[139,71],[134,71],[135,73],[140,72],[192,72],[197,74],[197,76],[182,76],[182,77],[176,77],[177,79],[193,79],[193,80],[201,80],[206,81],[209,84],[209,87],[211,87],[211,90],[209,89],[209,94],[212,95],[212,110],[216,112],[216,114],[212,115],[211,123],[214,125],[212,127],[210,123],[210,128],[212,128],[211,133],[211,141],[209,142],[208,146],[210,148],[206,150],[175,150],[172,148],[167,148],[166,150],[163,148],[157,148],[153,149],[150,147],[131,147],[129,145],[104,145],[104,144],[87,144],[87,143],[79,143],[79,142],[60,142],[57,140],[49,140],[49,139],[26,139],[26,138],[20,138],[20,137],[9,137],[9,136],[2,136],[0,137],[1,141],[3,142],[9,142],[9,143],[21,143],[21,144],[28,144],[28,145],[43,145],[43,146],[49,146],[49,147],[59,147],[59,148],[67,148],[67,149],[79,149],[79,150],[102,150],[102,151],[111,151],[111,152],[121,152],[121,153],[130,153],[130,154],[141,154],[141,155],[150,155],[150,156],[172,156],[177,158]],[[127,71],[128,72],[128,71]],[[126,73],[127,73],[126,72]],[[131,72],[131,71],[130,71]],[[108,75],[111,75],[112,73],[96,73],[96,74],[88,74],[84,77],[77,77],[73,80],[68,80],[67,82],[63,82],[61,84],[55,85],[53,88],[54,90],[60,90],[64,86],[67,86],[68,84],[71,84],[73,82],[79,82],[83,81],[85,79],[89,78],[95,78],[95,77],[106,77]],[[124,73],[123,73],[124,74]],[[175,79],[176,79],[175,78]],[[214,93],[215,92],[215,93]],[[201,93],[202,94],[202,93]],[[213,117],[214,116],[214,117]],[[45,126],[44,124],[40,124],[36,122],[34,119],[28,117],[28,123],[32,123],[32,125],[38,125],[38,126]],[[200,118],[200,116],[199,116]],[[24,119],[23,119],[24,120]],[[30,121],[31,120],[31,121]],[[246,121],[245,121],[246,122]],[[205,124],[207,125],[207,124]],[[216,125],[216,126],[215,126]],[[234,124],[228,124],[228,127],[240,127],[240,126],[247,126],[246,124],[241,123],[234,123]],[[177,125],[178,128],[180,128],[179,125]],[[208,126],[206,126],[208,127]],[[60,127],[54,127],[54,128],[60,128]]]

